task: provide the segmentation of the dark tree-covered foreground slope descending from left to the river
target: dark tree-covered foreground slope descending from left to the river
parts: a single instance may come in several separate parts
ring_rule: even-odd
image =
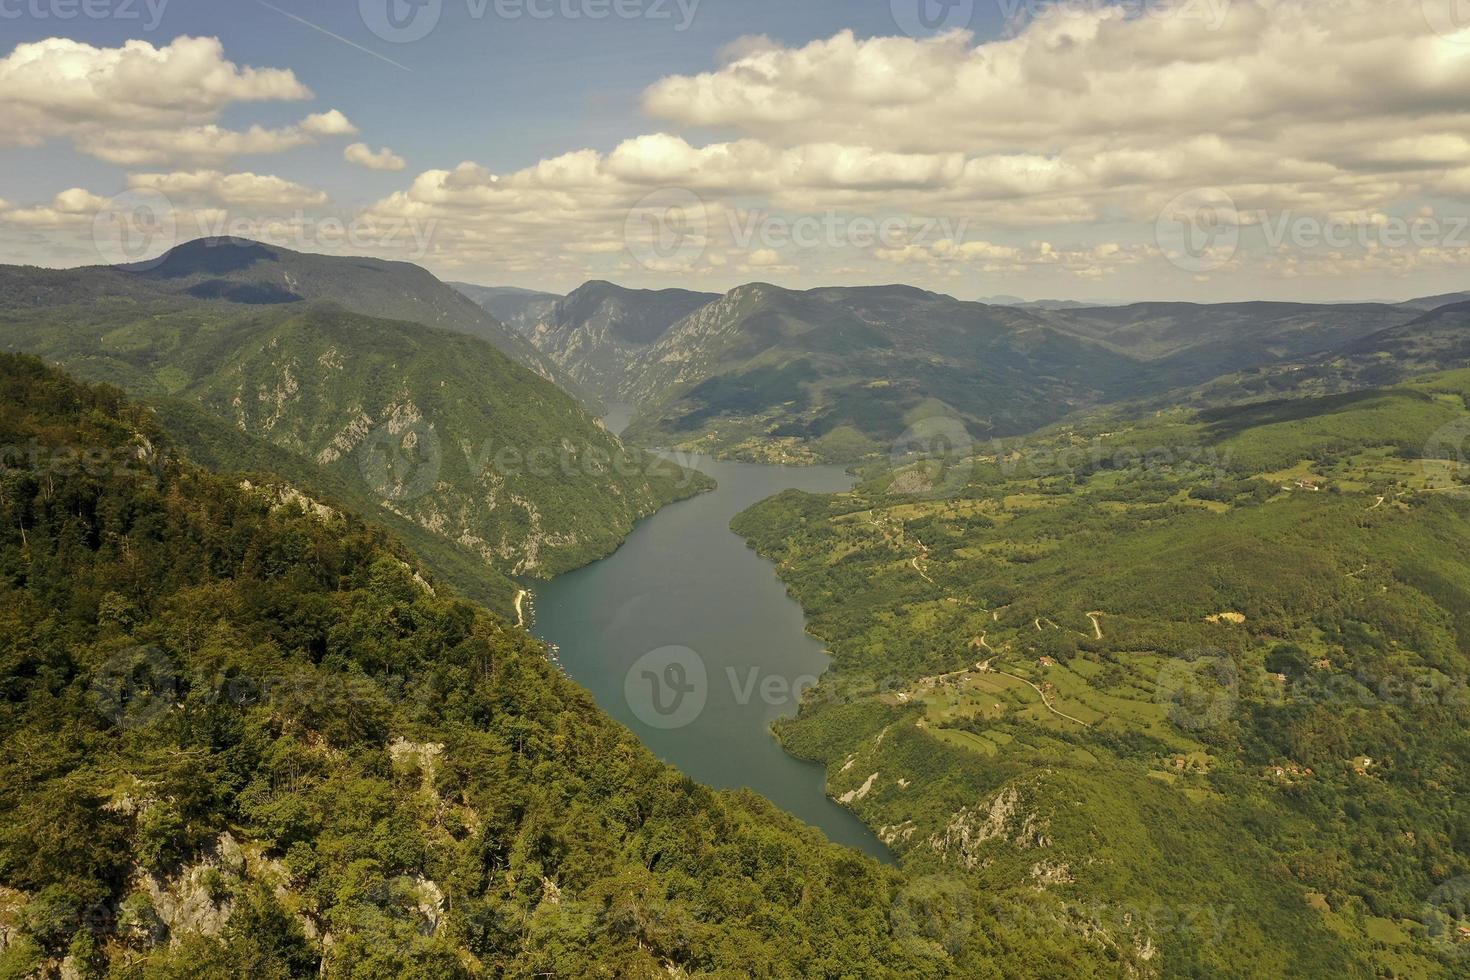
[[[895,873],[657,763],[381,532],[0,356],[4,976],[914,974]]]

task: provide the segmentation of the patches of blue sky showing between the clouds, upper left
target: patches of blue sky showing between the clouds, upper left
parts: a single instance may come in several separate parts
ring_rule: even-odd
[[[428,37],[388,43],[365,26],[356,0],[272,0],[270,7],[409,71],[257,0],[168,0],[153,31],[144,29],[150,22],[146,0],[132,4],[137,19],[7,19],[0,21],[0,47],[53,35],[98,47],[131,38],[163,44],[178,35],[218,37],[231,60],[291,68],[320,104],[341,109],[372,134],[369,143],[391,145],[404,156],[410,172],[462,160],[510,170],[575,147],[612,148],[629,134],[648,129],[638,104],[642,90],[662,75],[709,68],[722,47],[741,37],[766,34],[804,44],[844,28],[864,37],[895,32],[886,0],[685,1],[694,4],[694,16],[679,29],[684,16],[675,0],[656,10],[667,12],[670,19],[600,21],[529,15],[506,19],[495,15],[494,3],[444,0],[438,26]],[[12,0],[10,9],[24,4]],[[476,16],[476,10],[484,13]],[[1000,6],[982,4],[969,22],[979,31],[1000,31]],[[226,112],[223,120],[284,123],[294,112],[295,106],[250,107]],[[293,179],[315,178],[316,185],[343,201],[366,203],[401,184],[391,175],[332,175],[322,163],[335,156],[303,153],[272,170]],[[74,184],[115,178],[115,167],[54,148],[0,150],[0,166],[7,175],[3,194],[12,200],[26,200],[28,191],[54,192],[59,176]]]

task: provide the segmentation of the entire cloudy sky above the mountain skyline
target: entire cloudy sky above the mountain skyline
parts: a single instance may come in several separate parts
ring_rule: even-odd
[[[1460,0],[0,0],[0,262],[1470,288]]]

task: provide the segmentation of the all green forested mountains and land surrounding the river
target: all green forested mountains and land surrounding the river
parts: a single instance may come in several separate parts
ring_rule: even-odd
[[[1458,976],[1470,303],[448,289],[0,269],[0,345],[132,392],[0,354],[0,976]],[[638,444],[863,464],[732,527],[898,867],[507,620],[710,486]]]

